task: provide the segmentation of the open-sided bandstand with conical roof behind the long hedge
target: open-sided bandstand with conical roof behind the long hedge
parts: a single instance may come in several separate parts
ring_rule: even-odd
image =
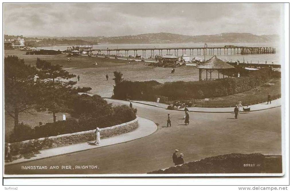
[[[206,71],[206,78],[204,80],[214,80],[217,78],[212,78],[212,72],[217,70],[218,71],[218,79],[219,79],[219,72],[222,70],[229,70],[231,68],[234,68],[232,65],[227,64],[223,60],[220,60],[217,58],[216,55],[214,55],[212,58],[207,60],[206,62],[200,64],[197,66],[199,68],[199,81],[202,80],[202,72]],[[208,78],[208,73],[210,73],[210,78]],[[224,78],[224,74],[223,74]]]

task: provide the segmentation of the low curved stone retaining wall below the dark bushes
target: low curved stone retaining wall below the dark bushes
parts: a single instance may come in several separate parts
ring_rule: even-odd
[[[106,127],[100,129],[100,138],[109,138],[134,131],[138,128],[138,117],[133,121],[127,123]],[[50,149],[54,147],[61,147],[77,143],[84,143],[86,141],[95,140],[95,129],[90,131],[82,131],[77,133],[69,133],[58,136],[51,136],[46,138],[25,140],[17,143],[11,143],[11,155],[25,154],[35,152],[43,149]]]

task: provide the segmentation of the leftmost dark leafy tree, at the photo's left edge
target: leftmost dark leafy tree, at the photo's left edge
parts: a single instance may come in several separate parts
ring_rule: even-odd
[[[37,94],[36,72],[35,67],[25,65],[17,56],[4,58],[5,112],[14,119],[14,129],[18,126],[19,113],[32,114]]]

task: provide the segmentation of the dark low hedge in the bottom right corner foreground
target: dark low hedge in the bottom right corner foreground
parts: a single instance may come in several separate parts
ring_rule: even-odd
[[[247,165],[246,165],[247,164]],[[281,156],[253,154],[225,154],[199,161],[173,166],[148,174],[195,174],[195,173],[281,173]]]

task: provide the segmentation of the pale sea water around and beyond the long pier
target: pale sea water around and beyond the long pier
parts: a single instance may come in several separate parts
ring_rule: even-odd
[[[284,63],[284,55],[282,50],[284,50],[284,46],[280,43],[207,43],[208,47],[224,47],[225,45],[234,45],[234,46],[248,46],[248,47],[274,47],[276,48],[275,54],[251,54],[251,55],[241,55],[241,54],[231,54],[230,49],[228,51],[228,54],[221,54],[220,52],[218,54],[218,58],[224,61],[229,62],[235,62],[239,60],[240,62],[245,63],[255,63],[255,64],[282,64]],[[58,46],[42,46],[38,48],[44,48],[44,49],[53,49],[53,50],[67,50],[67,47],[70,47],[73,45],[58,45]],[[202,47],[204,48],[204,43],[169,43],[169,44],[98,44],[93,45],[93,49],[106,49],[106,48],[171,48],[171,47]],[[93,52],[95,53],[95,52]],[[102,52],[106,54],[105,52]],[[137,52],[138,55],[142,55],[142,51]],[[223,49],[222,52],[223,53]],[[111,51],[111,54],[116,54],[116,51]],[[159,51],[154,51],[154,55],[158,55]],[[162,52],[163,55],[166,55],[166,50]],[[174,55],[174,50],[171,50],[170,54]],[[190,55],[190,51],[186,50],[186,55]],[[204,55],[203,51],[201,51],[201,55],[196,55],[197,51],[194,50],[194,55],[190,55],[190,59],[195,58],[196,60],[203,60]],[[217,50],[214,51],[214,54],[217,55]],[[124,56],[125,51],[120,51],[120,55]],[[129,51],[129,55],[134,56],[134,51]],[[151,52],[146,51],[146,58],[150,57]],[[183,55],[182,50],[178,51],[178,55]],[[207,55],[205,55],[206,60],[208,58],[211,58],[213,55],[209,55],[209,51],[207,51]]]

